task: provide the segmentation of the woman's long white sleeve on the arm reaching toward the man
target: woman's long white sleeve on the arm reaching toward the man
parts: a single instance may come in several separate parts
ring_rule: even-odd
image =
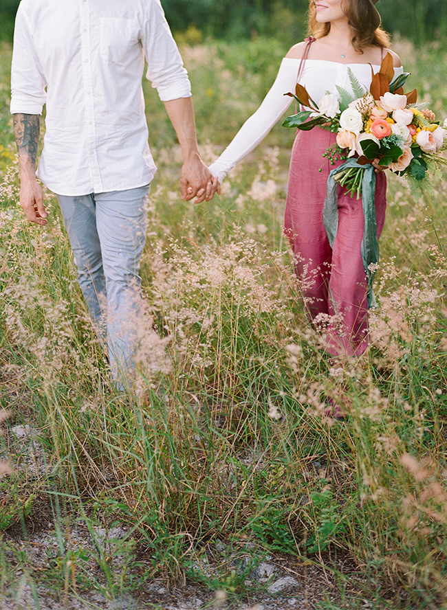
[[[293,98],[284,93],[294,93],[299,65],[299,59],[283,58],[272,89],[265,95],[259,109],[246,120],[232,142],[210,165],[210,172],[219,178],[219,182],[226,177],[231,168],[262,142],[290,106]]]

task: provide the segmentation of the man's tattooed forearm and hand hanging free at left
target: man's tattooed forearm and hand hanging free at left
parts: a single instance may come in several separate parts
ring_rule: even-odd
[[[36,225],[46,225],[47,212],[43,204],[43,192],[36,180],[37,146],[41,131],[41,117],[30,114],[14,114],[14,135],[20,164],[20,205],[28,220]]]

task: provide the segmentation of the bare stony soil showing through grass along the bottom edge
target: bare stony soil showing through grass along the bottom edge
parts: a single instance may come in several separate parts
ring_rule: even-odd
[[[16,456],[20,455],[21,473],[29,476],[30,480],[42,477],[45,473],[45,450],[36,440],[36,431],[27,425],[17,425],[8,431],[8,437],[4,445],[12,449]],[[3,451],[1,458],[7,459],[8,455]],[[6,493],[5,488],[2,493]],[[8,507],[4,501],[1,502],[1,497],[0,509],[3,509],[3,517],[7,519]],[[227,573],[232,574],[232,585],[239,577],[237,587],[229,586],[227,590],[243,591],[237,595],[223,590],[212,591],[193,582],[173,585],[168,580],[145,580],[141,574],[135,574],[135,560],[142,565],[144,561],[148,562],[148,558],[144,558],[144,550],[138,549],[138,543],[129,545],[129,528],[124,524],[115,524],[106,529],[101,526],[87,527],[83,519],[72,523],[65,519],[65,529],[61,532],[61,528],[55,525],[54,507],[50,508],[48,501],[39,504],[39,497],[34,498],[32,511],[25,522],[14,522],[13,515],[10,518],[12,526],[3,533],[3,565],[8,565],[8,582],[14,585],[8,589],[3,584],[7,580],[3,575],[0,610],[313,610],[323,600],[330,601],[330,607],[335,609],[347,606],[342,605],[340,600],[334,573],[347,575],[355,570],[355,563],[350,558],[340,559],[340,556],[336,561],[330,558],[329,562],[325,561],[327,565],[332,563],[334,571],[325,569],[323,563],[316,565],[292,556],[256,557],[254,547],[247,547],[246,554],[239,550],[235,556],[221,541],[195,556],[194,561],[191,560],[191,565],[206,574],[210,581],[216,575],[221,576],[222,565],[227,561]],[[73,558],[71,571],[58,571],[57,562],[61,561],[61,556],[65,557],[65,561],[67,557]],[[105,570],[98,566],[98,556],[109,561],[113,586],[107,584]],[[94,583],[94,587],[87,591],[76,591],[75,588],[75,572],[80,564],[85,580]],[[31,572],[38,583],[51,573],[50,585],[32,587]],[[36,574],[41,574],[43,578],[39,579]],[[58,585],[54,574],[65,574],[65,580],[61,576]],[[126,583],[131,574],[138,576],[139,583],[138,587],[132,589]],[[120,594],[110,599],[110,591],[116,588],[120,575],[123,575],[121,587],[118,587]],[[214,581],[219,582],[219,578]],[[122,591],[132,592],[122,594]],[[358,598],[358,595],[357,591],[352,591],[353,598]]]

